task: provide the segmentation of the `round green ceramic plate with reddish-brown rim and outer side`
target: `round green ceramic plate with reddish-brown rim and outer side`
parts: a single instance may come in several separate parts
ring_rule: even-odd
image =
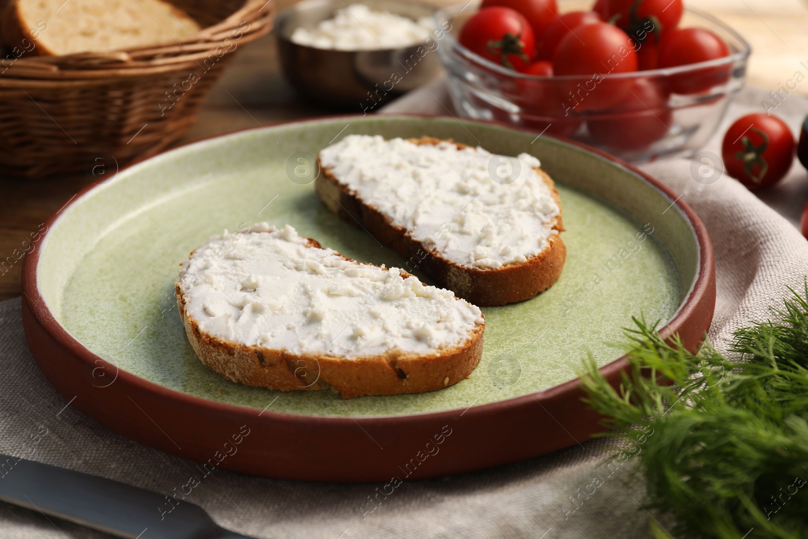
[[[351,133],[536,155],[561,195],[561,278],[532,300],[483,309],[482,361],[444,390],[343,401],[226,381],[194,356],[174,297],[179,263],[211,235],[288,223],[351,258],[413,269],[314,193],[314,154]],[[130,166],[61,208],[27,258],[27,335],[74,406],[169,453],[209,461],[244,425],[238,453],[217,465],[339,481],[389,479],[412,459],[411,477],[473,470],[595,432],[574,379],[590,354],[609,376],[625,367],[633,316],[667,323],[697,346],[713,314],[712,251],[675,198],[603,154],[498,124],[349,116],[253,129]],[[440,457],[420,461],[437,438]]]

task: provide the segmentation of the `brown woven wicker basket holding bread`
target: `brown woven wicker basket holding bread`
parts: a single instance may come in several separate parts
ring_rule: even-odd
[[[0,59],[0,174],[92,171],[182,137],[232,54],[271,28],[267,0],[170,0],[203,28],[170,44]]]

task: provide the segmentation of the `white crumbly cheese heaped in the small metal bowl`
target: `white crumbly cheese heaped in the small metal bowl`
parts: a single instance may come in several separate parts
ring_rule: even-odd
[[[308,47],[340,51],[402,48],[423,43],[433,27],[429,17],[416,22],[387,11],[373,11],[364,4],[352,4],[312,30],[298,27],[291,39]]]

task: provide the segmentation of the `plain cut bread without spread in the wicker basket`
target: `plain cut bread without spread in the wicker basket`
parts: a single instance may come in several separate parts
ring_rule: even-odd
[[[61,56],[175,43],[200,25],[163,0],[10,0],[0,31],[27,54]]]

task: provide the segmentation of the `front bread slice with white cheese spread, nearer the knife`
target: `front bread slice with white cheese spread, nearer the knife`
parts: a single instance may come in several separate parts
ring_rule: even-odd
[[[477,306],[289,225],[211,238],[175,286],[196,355],[247,385],[343,398],[418,393],[461,381],[482,355]]]

